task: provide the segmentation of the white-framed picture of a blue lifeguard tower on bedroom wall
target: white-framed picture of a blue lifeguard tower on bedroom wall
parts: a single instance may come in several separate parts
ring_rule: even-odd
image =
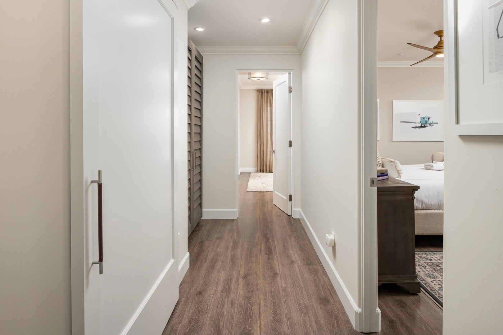
[[[393,141],[444,141],[444,101],[393,100]]]

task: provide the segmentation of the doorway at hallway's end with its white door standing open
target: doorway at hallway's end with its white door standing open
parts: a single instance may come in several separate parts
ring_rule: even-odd
[[[243,199],[242,192],[236,192],[237,207],[248,198],[247,192],[270,191],[273,203],[291,215],[293,71],[236,72],[236,185],[247,183],[241,185]],[[241,173],[246,178],[239,178]]]

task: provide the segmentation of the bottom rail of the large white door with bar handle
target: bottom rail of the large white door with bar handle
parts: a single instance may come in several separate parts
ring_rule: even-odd
[[[178,276],[175,261],[166,266],[145,299],[128,322],[121,335],[160,334],[178,301]],[[173,289],[176,285],[176,290]]]

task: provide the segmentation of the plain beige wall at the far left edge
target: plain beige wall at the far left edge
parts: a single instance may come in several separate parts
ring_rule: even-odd
[[[68,0],[0,11],[0,333],[68,335]]]

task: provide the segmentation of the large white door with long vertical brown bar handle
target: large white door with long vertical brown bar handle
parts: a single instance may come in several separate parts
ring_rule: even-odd
[[[83,306],[72,305],[72,318],[83,314],[84,327],[73,329],[87,335],[161,334],[178,300],[170,14],[177,9],[171,0],[82,5]],[[92,182],[98,170],[102,186]],[[93,264],[100,249],[98,187],[102,274],[101,265]],[[78,230],[72,240],[73,234]],[[77,291],[72,287],[72,300]]]

